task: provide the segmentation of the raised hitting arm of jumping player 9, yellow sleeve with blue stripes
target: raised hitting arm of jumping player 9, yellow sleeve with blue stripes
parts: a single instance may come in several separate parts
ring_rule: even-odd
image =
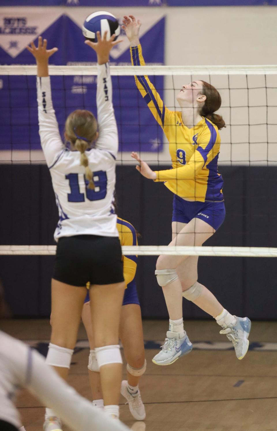
[[[145,66],[145,61],[142,56],[142,46],[138,39],[138,32],[141,26],[141,22],[136,21],[133,15],[124,16],[123,30],[126,32],[126,36],[130,41],[130,53],[131,61],[133,66]],[[170,111],[164,104],[159,93],[155,89],[154,85],[148,79],[147,75],[136,75],[135,84],[138,87],[142,97],[148,105],[148,108],[152,112],[155,120],[164,129],[170,124],[170,118],[173,112]],[[165,130],[166,132],[166,130]]]

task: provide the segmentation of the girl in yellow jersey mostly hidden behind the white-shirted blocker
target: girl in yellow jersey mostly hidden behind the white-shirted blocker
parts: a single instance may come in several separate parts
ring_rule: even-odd
[[[136,231],[131,223],[117,217],[116,227],[119,233],[120,244],[122,246],[138,245]],[[122,256],[122,263],[126,288],[120,315],[120,340],[123,344],[124,356],[127,361],[128,380],[123,380],[121,384],[121,394],[126,398],[133,417],[137,421],[142,421],[145,419],[145,408],[138,389],[138,382],[146,370],[146,360],[142,332],[142,315],[135,284],[137,256]],[[94,350],[94,335],[91,325],[89,294],[87,294],[87,297],[85,298],[82,320],[88,334],[91,349],[88,360],[88,374],[94,398],[93,403],[100,408],[104,408],[99,367]]]

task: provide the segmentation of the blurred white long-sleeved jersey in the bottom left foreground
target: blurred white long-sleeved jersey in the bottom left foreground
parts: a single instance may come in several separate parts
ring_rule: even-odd
[[[0,331],[0,419],[16,428],[22,426],[14,406],[19,387],[26,387],[73,431],[129,430],[77,394],[38,352]]]

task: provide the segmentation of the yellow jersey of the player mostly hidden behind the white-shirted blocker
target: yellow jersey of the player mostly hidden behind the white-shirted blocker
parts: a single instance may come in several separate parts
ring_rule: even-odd
[[[138,245],[137,234],[131,223],[117,217],[116,228],[119,233],[120,244],[123,245]],[[137,269],[137,256],[122,256],[123,260],[123,276],[126,284],[133,281]]]

